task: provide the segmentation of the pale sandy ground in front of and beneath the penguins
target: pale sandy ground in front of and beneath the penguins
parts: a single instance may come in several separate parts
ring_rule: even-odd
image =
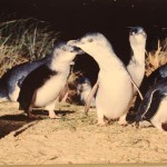
[[[61,119],[29,120],[18,104],[0,104],[0,165],[167,163],[167,135],[116,122],[99,127],[96,111],[63,104]]]

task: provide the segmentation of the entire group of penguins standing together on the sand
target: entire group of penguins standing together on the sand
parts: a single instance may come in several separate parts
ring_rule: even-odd
[[[79,39],[59,42],[51,55],[33,62],[24,62],[9,69],[0,79],[0,102],[19,102],[29,118],[38,118],[33,108],[45,108],[50,118],[59,118],[55,106],[67,98],[70,65],[79,56],[87,53],[99,66],[98,79],[91,86],[89,78],[77,78],[77,95],[86,106],[96,107],[98,125],[106,125],[111,119],[119,119],[119,125],[127,125],[127,114],[134,97],[140,87],[147,88],[140,95],[135,122],[150,121],[159,130],[165,130],[167,121],[167,65],[160,67],[148,78],[145,77],[145,50],[147,35],[141,27],[129,31],[129,45],[132,56],[127,66],[100,32],[89,32]]]

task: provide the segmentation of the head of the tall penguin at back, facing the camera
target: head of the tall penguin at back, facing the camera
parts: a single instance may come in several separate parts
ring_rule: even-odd
[[[147,35],[141,27],[132,27],[129,32],[129,41],[131,47],[146,46]]]

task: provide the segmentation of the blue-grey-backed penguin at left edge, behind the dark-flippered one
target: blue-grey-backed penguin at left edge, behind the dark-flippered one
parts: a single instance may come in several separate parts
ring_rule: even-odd
[[[51,59],[51,55],[32,62],[23,62],[9,69],[0,78],[0,102],[17,101],[23,79],[36,68]]]

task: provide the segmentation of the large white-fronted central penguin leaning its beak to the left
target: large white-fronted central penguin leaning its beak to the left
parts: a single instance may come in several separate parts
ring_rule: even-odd
[[[108,39],[102,33],[92,32],[70,40],[68,45],[82,49],[99,66],[98,87],[96,85],[98,125],[106,125],[105,118],[109,120],[125,116],[134,97],[132,79]]]

